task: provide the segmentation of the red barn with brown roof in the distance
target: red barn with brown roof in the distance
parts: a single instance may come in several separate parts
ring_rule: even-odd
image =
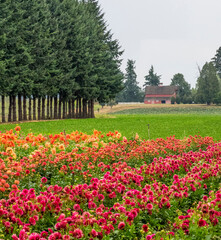
[[[171,98],[177,95],[177,86],[147,86],[145,88],[145,104],[170,104]]]

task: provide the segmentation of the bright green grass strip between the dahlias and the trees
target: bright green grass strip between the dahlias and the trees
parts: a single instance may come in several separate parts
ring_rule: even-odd
[[[221,140],[221,115],[209,114],[134,114],[111,115],[110,117],[100,115],[95,119],[25,122],[19,125],[23,134],[33,132],[49,135],[64,130],[66,133],[78,130],[91,134],[93,129],[97,129],[104,133],[117,130],[127,138],[133,138],[138,133],[141,138],[148,139],[147,124],[150,126],[151,139],[166,138],[172,135],[176,138],[201,135]],[[16,124],[1,124],[0,131],[10,130],[15,126]]]

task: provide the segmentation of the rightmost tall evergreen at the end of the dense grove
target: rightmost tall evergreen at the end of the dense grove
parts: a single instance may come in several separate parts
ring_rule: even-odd
[[[82,75],[78,76],[78,81],[80,80],[78,92],[83,91],[83,106],[84,101],[90,103],[93,99],[97,99],[99,102],[109,102],[114,99],[122,90],[123,80],[119,59],[123,52],[120,50],[118,41],[113,40],[111,32],[107,30],[104,14],[98,1],[87,1],[85,11],[83,16],[85,16],[86,31],[83,34],[89,33],[89,38],[85,38],[87,42],[81,46],[84,50],[83,56],[77,58],[83,60],[80,64],[77,63],[78,67],[81,66],[84,69]],[[89,104],[89,109],[93,112],[91,108],[93,103]]]

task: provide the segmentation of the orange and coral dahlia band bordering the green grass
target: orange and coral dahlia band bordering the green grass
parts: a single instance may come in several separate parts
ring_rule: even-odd
[[[106,171],[112,171],[113,164],[119,161],[137,168],[151,162],[156,156],[172,152],[183,154],[196,146],[200,148],[213,144],[208,137],[128,141],[121,138],[118,132],[109,132],[105,136],[95,130],[90,136],[76,131],[45,137],[32,133],[23,136],[19,130],[16,127],[16,132],[0,133],[0,192],[31,187],[43,176],[51,180],[52,176],[60,178],[65,175],[66,181],[62,181],[64,186],[88,182],[93,175],[100,177]],[[114,141],[110,142],[110,138]],[[51,183],[57,181],[55,178]]]

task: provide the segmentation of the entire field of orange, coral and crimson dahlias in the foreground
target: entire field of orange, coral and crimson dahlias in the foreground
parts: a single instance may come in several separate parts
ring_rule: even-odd
[[[221,143],[0,133],[0,239],[220,239]]]

